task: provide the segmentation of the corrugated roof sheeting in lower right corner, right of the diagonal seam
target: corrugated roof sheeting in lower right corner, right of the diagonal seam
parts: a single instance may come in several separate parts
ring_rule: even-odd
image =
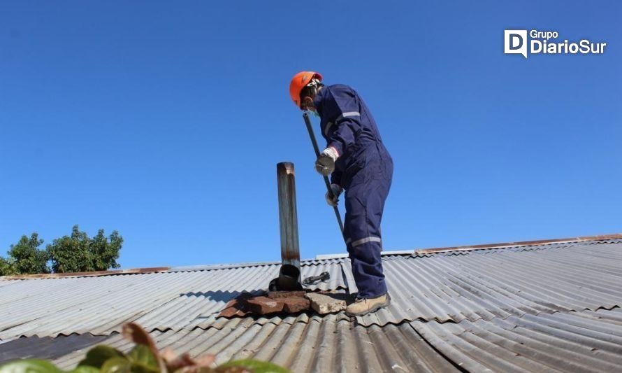
[[[619,308],[411,325],[444,356],[471,372],[622,371]]]

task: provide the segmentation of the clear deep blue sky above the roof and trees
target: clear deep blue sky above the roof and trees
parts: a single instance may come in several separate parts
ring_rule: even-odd
[[[281,161],[302,257],[345,253],[301,69],[375,115],[385,250],[621,232],[622,6],[530,3],[3,1],[0,254],[79,224],[118,230],[125,268],[279,260]],[[504,29],[607,50],[504,55]]]

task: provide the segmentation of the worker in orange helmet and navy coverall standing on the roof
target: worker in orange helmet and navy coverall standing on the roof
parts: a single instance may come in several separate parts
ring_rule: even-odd
[[[393,160],[363,99],[352,87],[325,86],[314,71],[291,79],[294,104],[320,118],[326,148],[315,162],[322,175],[331,175],[326,202],[336,206],[345,190],[343,237],[359,293],[347,306],[349,316],[363,316],[391,302],[382,270],[380,221],[391,188]]]

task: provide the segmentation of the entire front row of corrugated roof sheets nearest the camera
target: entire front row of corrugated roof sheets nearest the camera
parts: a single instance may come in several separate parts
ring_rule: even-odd
[[[619,372],[622,310],[556,312],[480,319],[475,323],[413,321],[363,327],[340,315],[304,321],[253,323],[233,319],[220,328],[152,332],[160,349],[191,356],[217,355],[217,362],[258,358],[294,372]],[[102,343],[123,351],[120,335]],[[70,369],[82,351],[55,360]],[[391,369],[389,369],[391,368]]]

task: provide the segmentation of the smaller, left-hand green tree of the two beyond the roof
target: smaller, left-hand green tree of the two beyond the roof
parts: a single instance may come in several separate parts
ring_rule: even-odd
[[[50,273],[48,268],[48,253],[40,250],[43,239],[33,233],[28,238],[25,234],[17,244],[11,245],[8,255],[13,265],[13,270],[18,274]]]

